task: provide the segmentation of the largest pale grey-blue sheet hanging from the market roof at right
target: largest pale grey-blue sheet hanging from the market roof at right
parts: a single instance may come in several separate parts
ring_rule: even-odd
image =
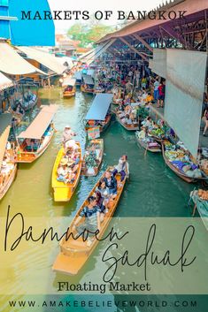
[[[193,156],[197,156],[207,55],[167,49],[165,118]]]

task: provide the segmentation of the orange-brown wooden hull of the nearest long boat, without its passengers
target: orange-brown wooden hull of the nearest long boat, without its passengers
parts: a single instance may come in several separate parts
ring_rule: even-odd
[[[109,169],[108,169],[109,170]],[[101,179],[104,178],[104,175]],[[118,181],[118,192],[117,197],[114,201],[109,203],[108,212],[104,215],[104,221],[101,223],[101,229],[98,234],[98,239],[101,239],[104,235],[104,232],[110,223],[112,216],[118,206],[120,195],[123,192],[126,179],[120,184],[120,176],[119,174],[116,175],[116,179]],[[94,194],[96,191],[96,187],[98,186],[99,181],[91,190],[90,195]],[[88,196],[88,198],[89,198]],[[73,229],[73,224],[77,217],[79,217],[81,210],[86,206],[88,202],[88,198],[82,203],[81,208],[77,211],[76,216],[73,218],[72,223],[70,224],[70,231]],[[83,222],[83,221],[82,221]],[[73,232],[73,231],[72,231]],[[76,275],[84,264],[88,261],[89,256],[95,250],[96,246],[98,245],[98,240],[93,240],[91,246],[87,245],[86,241],[83,241],[82,238],[78,238],[74,240],[72,237],[69,240],[65,240],[65,237],[60,241],[60,253],[58,257],[53,263],[52,270],[62,272],[65,274]]]

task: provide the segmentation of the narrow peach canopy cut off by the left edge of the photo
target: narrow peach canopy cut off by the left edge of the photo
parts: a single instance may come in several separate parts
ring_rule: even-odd
[[[11,122],[12,114],[0,115],[0,168],[2,166],[5,148],[10,134]]]

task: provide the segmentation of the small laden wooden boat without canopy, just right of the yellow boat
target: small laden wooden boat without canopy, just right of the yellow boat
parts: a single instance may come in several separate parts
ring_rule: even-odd
[[[90,148],[95,147],[95,152],[96,152],[96,166],[93,168],[89,168],[88,164],[86,164],[86,159],[87,159],[87,153],[89,153]],[[94,177],[97,175],[99,167],[102,163],[104,156],[104,140],[103,139],[95,139],[95,140],[90,140],[89,145],[86,148],[85,155],[82,160],[82,165],[81,165],[81,171],[82,174],[86,177]],[[90,171],[91,170],[91,171]]]

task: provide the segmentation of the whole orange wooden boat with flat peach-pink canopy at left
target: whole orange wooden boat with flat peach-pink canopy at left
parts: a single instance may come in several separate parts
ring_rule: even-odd
[[[44,106],[26,131],[18,135],[18,163],[33,163],[49,147],[54,134],[52,118],[56,110],[57,105]]]

